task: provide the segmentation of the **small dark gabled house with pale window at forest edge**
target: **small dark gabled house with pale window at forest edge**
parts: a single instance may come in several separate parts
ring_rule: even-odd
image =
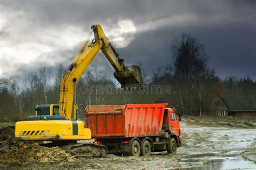
[[[214,107],[216,110],[215,111],[216,116],[227,116],[228,115],[228,110],[230,110],[230,108],[228,107],[224,98],[222,98],[220,96],[216,96],[213,99],[213,102],[214,102]]]

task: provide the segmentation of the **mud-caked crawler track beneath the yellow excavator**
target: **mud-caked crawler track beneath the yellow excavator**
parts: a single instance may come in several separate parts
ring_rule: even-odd
[[[77,143],[61,146],[64,151],[72,154],[75,158],[106,157],[107,147],[90,143]]]

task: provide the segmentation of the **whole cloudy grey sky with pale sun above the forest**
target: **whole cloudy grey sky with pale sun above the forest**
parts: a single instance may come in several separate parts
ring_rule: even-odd
[[[217,75],[256,80],[255,1],[2,1],[0,76],[24,75],[39,63],[68,67],[100,24],[126,65],[142,63],[147,74],[171,63],[170,45],[191,33],[205,45]],[[100,52],[93,64],[108,77],[113,68]]]

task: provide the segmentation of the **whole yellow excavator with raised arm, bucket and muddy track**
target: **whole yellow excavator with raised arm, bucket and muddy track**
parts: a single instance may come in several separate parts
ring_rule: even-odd
[[[115,69],[114,77],[122,87],[142,86],[142,75],[138,66],[124,65],[124,60],[119,58],[100,25],[92,25],[91,29],[95,39],[90,44],[89,40],[84,42],[75,61],[62,77],[59,105],[37,105],[36,116],[16,123],[16,139],[52,141],[61,144],[64,150],[76,157],[106,155],[107,148],[104,145],[77,143],[77,140],[91,139],[91,130],[86,128],[85,121],[77,119],[76,84],[100,50]]]

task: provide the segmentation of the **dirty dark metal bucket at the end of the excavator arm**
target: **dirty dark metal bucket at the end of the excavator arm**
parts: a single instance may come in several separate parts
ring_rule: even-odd
[[[125,66],[122,72],[114,72],[114,77],[122,88],[141,87],[143,84],[142,73],[139,66]]]

